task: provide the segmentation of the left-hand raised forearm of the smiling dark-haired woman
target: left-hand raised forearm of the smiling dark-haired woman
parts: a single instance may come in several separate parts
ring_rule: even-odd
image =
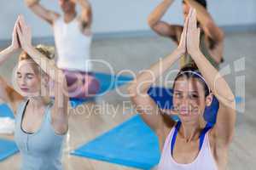
[[[182,55],[177,49],[164,59],[160,59],[159,62],[152,65],[148,70],[140,71],[136,80],[131,83],[130,89],[134,92],[148,93],[148,89],[156,80],[163,76],[163,74],[177,61]]]

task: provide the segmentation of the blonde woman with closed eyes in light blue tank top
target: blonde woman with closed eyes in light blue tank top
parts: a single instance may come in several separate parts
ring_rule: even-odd
[[[21,169],[61,170],[62,145],[68,129],[66,77],[51,60],[47,48],[32,47],[31,31],[22,16],[15,23],[12,45],[0,52],[0,65],[18,48],[23,52],[15,70],[17,88],[0,79],[0,98],[15,113]],[[55,85],[54,101],[49,97],[51,81]]]

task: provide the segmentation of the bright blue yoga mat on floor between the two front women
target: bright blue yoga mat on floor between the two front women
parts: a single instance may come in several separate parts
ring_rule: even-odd
[[[140,169],[150,169],[160,160],[158,139],[140,116],[133,116],[71,154]]]

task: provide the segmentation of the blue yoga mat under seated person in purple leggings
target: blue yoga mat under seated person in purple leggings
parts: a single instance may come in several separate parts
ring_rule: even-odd
[[[96,96],[102,95],[107,93],[114,88],[118,88],[122,85],[125,85],[127,82],[132,80],[132,77],[126,76],[115,76],[109,75],[107,73],[96,72],[94,73],[96,79],[100,82],[100,90]],[[96,98],[89,98],[89,99],[70,99],[70,104],[73,108],[81,105],[85,102],[95,100]]]

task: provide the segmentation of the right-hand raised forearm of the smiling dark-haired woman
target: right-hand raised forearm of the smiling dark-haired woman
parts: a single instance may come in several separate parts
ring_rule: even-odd
[[[192,59],[194,59],[195,64],[198,66],[201,74],[206,79],[208,85],[210,86],[213,94],[218,98],[220,102],[224,105],[235,104],[235,96],[232,93],[230,86],[224,80],[224,77],[210,64],[201,51],[191,54]]]

